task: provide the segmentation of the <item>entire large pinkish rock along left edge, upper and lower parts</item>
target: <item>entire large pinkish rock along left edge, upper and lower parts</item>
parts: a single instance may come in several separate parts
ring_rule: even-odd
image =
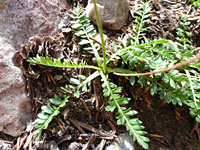
[[[0,0],[0,131],[18,136],[31,119],[21,70],[12,64],[14,53],[33,35],[57,32],[62,8],[59,0]]]

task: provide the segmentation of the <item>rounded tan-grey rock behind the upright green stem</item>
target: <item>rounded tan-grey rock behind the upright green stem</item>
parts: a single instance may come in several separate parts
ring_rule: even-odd
[[[125,24],[129,12],[128,0],[98,0],[97,3],[103,27],[119,30]],[[96,24],[93,0],[88,1],[86,14]]]

